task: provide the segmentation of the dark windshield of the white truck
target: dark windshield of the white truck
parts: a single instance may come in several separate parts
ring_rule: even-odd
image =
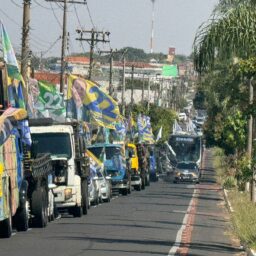
[[[58,157],[72,156],[70,135],[68,133],[34,133],[32,136],[32,155],[50,153]]]

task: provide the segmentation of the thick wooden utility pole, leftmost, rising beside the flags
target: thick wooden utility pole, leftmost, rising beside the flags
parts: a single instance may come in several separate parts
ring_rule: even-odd
[[[22,26],[22,48],[21,48],[21,75],[25,82],[23,94],[25,102],[27,102],[27,82],[28,82],[28,59],[30,55],[29,50],[29,30],[30,30],[30,5],[31,0],[24,0],[23,2],[23,26]]]

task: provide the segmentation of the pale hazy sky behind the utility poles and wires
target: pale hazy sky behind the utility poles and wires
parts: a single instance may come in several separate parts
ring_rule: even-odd
[[[78,0],[77,0],[78,1]],[[80,0],[83,1],[83,0]],[[22,0],[0,0],[0,19],[6,26],[16,51],[21,45]],[[60,40],[53,48],[50,46],[62,34],[62,7],[45,0],[31,0],[31,41],[34,54],[49,50],[47,56],[60,55]],[[87,0],[92,21],[98,30],[110,31],[110,45],[99,44],[98,48],[108,50],[132,46],[150,51],[151,0]],[[195,32],[206,21],[218,0],[156,0],[154,52],[168,52],[169,46],[176,52],[190,54]],[[75,40],[75,30],[80,27],[78,17],[85,29],[92,23],[85,5],[69,4],[68,31],[70,33],[70,52],[82,52]],[[86,42],[84,49],[88,51]]]

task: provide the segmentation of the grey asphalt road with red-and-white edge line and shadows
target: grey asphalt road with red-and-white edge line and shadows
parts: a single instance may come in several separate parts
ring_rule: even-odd
[[[14,233],[0,240],[0,255],[237,255],[241,251],[225,234],[228,220],[213,173],[206,168],[196,186],[151,183],[83,218],[64,216],[46,229]]]

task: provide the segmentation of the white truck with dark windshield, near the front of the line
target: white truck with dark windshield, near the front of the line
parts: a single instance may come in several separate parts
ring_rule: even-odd
[[[53,165],[55,203],[60,212],[68,211],[74,217],[87,214],[89,207],[89,159],[86,143],[79,133],[79,124],[54,124],[48,119],[30,122],[33,152],[50,153]]]

